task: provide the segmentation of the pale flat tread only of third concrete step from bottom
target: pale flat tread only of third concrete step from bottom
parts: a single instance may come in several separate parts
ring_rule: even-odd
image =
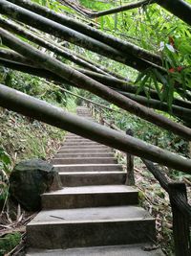
[[[96,186],[77,186],[64,187],[43,195],[67,195],[67,194],[104,194],[104,193],[138,193],[138,190],[126,185],[96,185]]]

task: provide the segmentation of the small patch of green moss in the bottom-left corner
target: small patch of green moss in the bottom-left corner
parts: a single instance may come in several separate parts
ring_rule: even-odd
[[[20,242],[21,234],[19,232],[7,234],[0,238],[0,256],[6,255],[6,253],[10,252]]]

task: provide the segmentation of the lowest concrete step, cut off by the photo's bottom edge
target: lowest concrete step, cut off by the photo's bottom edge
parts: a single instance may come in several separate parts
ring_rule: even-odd
[[[130,244],[55,250],[31,249],[26,256],[164,256],[160,248],[149,250],[152,247],[153,244]]]

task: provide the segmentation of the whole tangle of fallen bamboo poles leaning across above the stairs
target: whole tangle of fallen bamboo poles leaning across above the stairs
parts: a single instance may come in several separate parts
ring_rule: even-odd
[[[139,1],[138,7],[140,2],[143,2],[141,4],[145,4],[145,2],[146,4],[159,4],[188,25],[191,24],[191,7],[183,1],[177,0],[176,4],[175,1],[171,0]],[[137,94],[138,84],[135,84],[135,81],[127,81],[104,65],[96,63],[95,60],[75,54],[74,51],[69,50],[60,42],[68,41],[104,58],[134,68],[140,73],[145,70],[152,70],[157,74],[157,82],[162,84],[163,78],[169,74],[162,65],[163,60],[158,54],[113,35],[105,34],[74,18],[53,12],[29,0],[0,0],[0,13],[0,36],[4,46],[0,48],[0,64],[2,66],[45,78],[60,86],[67,83],[87,90],[160,128],[174,132],[188,141],[191,140],[191,128],[189,128],[191,124],[191,94],[189,87],[185,89],[177,81],[176,92],[178,96],[173,99],[169,108],[167,99],[161,102],[159,93],[155,88],[149,89],[149,99],[147,89],[141,90]],[[53,52],[53,56],[40,51],[39,46]],[[63,63],[55,57],[66,58],[80,68]],[[42,104],[39,100],[32,100],[29,97],[26,98],[27,96],[24,94],[18,94],[18,100],[17,93],[4,85],[0,85],[0,105],[55,127],[65,128],[74,133],[78,132],[84,137],[90,138],[92,136],[91,138],[96,141],[119,150],[132,152],[146,159],[190,173],[191,160],[189,159],[183,159],[168,151],[161,151],[158,147],[134,140],[124,134],[121,136],[126,144],[122,145],[122,137],[117,137],[119,135],[109,128],[107,132],[105,128],[94,128],[91,122],[86,123],[80,118],[79,121],[74,122],[73,117],[69,117],[66,112],[61,112],[61,110],[59,112],[58,109],[52,111],[51,107],[55,110],[53,106]],[[26,104],[28,100],[29,104]],[[22,104],[22,101],[25,104]],[[31,108],[30,103],[35,107]],[[154,109],[164,112],[170,111],[181,122],[175,122]],[[50,115],[45,114],[46,111],[50,111]],[[62,121],[60,121],[58,113],[63,115]],[[67,125],[67,118],[73,119],[70,125]],[[64,122],[66,122],[65,125]],[[86,126],[87,128],[85,128]],[[107,133],[110,134],[108,137]]]

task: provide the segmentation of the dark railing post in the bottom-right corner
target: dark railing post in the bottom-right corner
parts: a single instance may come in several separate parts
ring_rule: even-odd
[[[169,183],[169,198],[173,213],[173,236],[176,256],[191,255],[190,218],[180,211],[180,207],[173,202],[173,198],[180,198],[187,203],[186,187],[184,183]]]

